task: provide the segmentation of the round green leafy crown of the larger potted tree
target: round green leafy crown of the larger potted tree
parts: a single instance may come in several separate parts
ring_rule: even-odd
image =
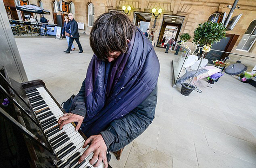
[[[221,23],[205,22],[198,25],[194,31],[193,43],[212,45],[226,35],[226,28]]]

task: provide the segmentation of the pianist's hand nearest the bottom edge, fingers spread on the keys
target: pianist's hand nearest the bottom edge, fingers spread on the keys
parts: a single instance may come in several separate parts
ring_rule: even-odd
[[[83,155],[80,157],[78,163],[83,162],[83,160],[91,153],[93,152],[94,155],[92,157],[92,159],[90,160],[90,164],[93,165],[94,163],[94,167],[98,167],[101,162],[103,162],[105,164],[104,168],[108,168],[108,161],[107,161],[107,146],[106,143],[103,139],[103,137],[101,136],[101,134],[99,135],[93,135],[91,137],[89,137],[84,145],[83,148],[87,147],[87,145],[90,144],[89,148],[86,149],[86,151],[83,153]],[[98,159],[99,158],[99,159]],[[98,159],[98,161],[97,161]],[[97,162],[96,162],[97,161]]]

